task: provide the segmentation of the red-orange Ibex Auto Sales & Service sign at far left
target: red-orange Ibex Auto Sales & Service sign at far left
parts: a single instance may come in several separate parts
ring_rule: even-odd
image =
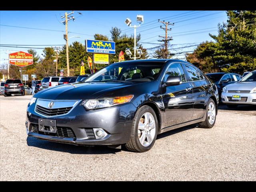
[[[25,53],[23,51],[10,53],[9,54],[9,64],[25,67],[33,64],[33,55],[29,53]]]

